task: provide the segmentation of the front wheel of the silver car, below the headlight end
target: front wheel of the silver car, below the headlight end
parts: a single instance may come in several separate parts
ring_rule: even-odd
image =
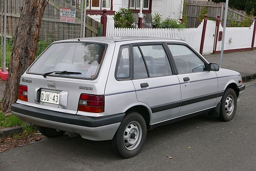
[[[231,121],[236,113],[237,97],[233,89],[227,88],[221,98],[221,108],[219,119],[221,121]]]

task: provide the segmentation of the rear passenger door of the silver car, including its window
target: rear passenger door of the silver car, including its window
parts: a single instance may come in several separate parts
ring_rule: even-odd
[[[164,44],[133,45],[132,54],[132,81],[137,100],[151,107],[151,124],[177,117],[180,111],[180,82],[177,75],[173,75]]]

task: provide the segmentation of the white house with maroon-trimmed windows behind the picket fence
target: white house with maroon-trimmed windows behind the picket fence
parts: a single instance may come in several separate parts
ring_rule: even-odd
[[[88,2],[89,1],[89,2]],[[159,13],[163,19],[170,18],[182,18],[184,0],[143,0],[143,14]],[[140,0],[87,0],[89,7],[86,10],[93,19],[100,22],[100,17],[103,9],[107,9],[108,23],[113,24],[113,14],[119,10],[119,8],[133,9],[133,12],[139,13]]]

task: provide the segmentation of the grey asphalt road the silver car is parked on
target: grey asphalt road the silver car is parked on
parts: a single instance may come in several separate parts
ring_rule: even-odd
[[[246,86],[233,121],[204,114],[150,130],[131,159],[114,155],[108,141],[61,136],[0,154],[0,171],[256,170],[256,81]]]

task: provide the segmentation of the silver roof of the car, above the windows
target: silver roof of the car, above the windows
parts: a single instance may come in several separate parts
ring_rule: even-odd
[[[184,42],[183,40],[169,39],[169,38],[157,38],[157,37],[125,37],[125,36],[116,36],[116,37],[90,37],[90,38],[76,38],[68,39],[58,42],[66,41],[95,41],[102,43],[114,43],[119,41],[138,41],[138,40],[158,40],[158,41],[174,41],[174,42]]]

